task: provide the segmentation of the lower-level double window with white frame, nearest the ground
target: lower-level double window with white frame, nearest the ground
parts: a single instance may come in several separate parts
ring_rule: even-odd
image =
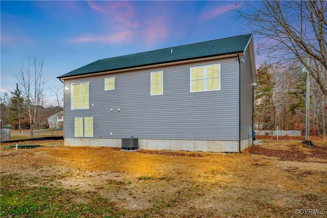
[[[75,137],[93,137],[93,117],[75,117]]]

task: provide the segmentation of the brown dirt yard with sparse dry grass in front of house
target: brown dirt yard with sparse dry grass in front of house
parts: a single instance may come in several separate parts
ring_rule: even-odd
[[[263,140],[242,154],[66,147],[62,140],[19,144],[44,146],[15,150],[3,143],[2,175],[40,178],[34,186],[91,191],[130,214],[148,210],[151,217],[154,207],[166,217],[327,214],[325,142],[309,147]]]

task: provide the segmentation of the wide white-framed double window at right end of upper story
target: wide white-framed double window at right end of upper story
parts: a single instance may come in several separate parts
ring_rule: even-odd
[[[220,63],[190,68],[190,92],[220,90]]]

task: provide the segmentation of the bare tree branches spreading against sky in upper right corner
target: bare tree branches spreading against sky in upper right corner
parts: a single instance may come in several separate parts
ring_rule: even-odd
[[[245,6],[245,7],[243,7]],[[258,52],[300,62],[327,95],[327,4],[324,1],[242,2],[236,7],[258,38]]]

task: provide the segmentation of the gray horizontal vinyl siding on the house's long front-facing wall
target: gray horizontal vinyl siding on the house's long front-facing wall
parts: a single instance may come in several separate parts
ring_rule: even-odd
[[[221,90],[191,93],[190,67],[215,63]],[[150,95],[154,71],[163,71],[162,95]],[[71,110],[71,92],[64,91],[64,137],[74,137],[74,117],[94,117],[93,138],[238,140],[237,72],[237,58],[226,58],[65,79],[64,86],[89,82],[89,109]],[[105,91],[104,78],[113,76],[115,89]]]

